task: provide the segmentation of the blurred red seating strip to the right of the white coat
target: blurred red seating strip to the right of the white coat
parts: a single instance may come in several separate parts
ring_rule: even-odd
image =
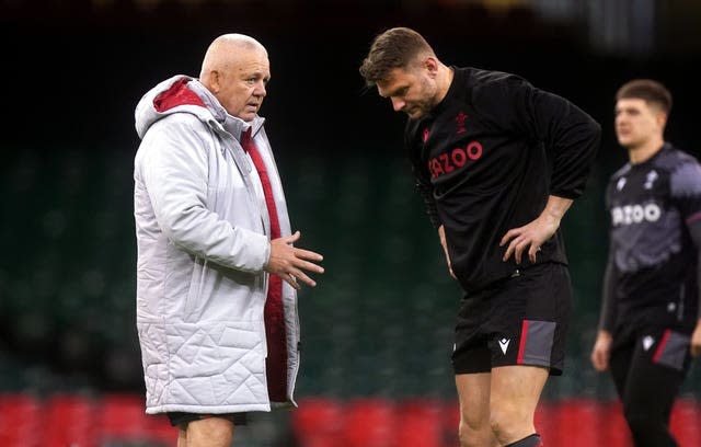
[[[300,447],[457,445],[459,413],[455,401],[310,398],[299,403],[291,424]],[[700,426],[701,408],[697,401],[681,399],[671,417],[671,431],[679,446],[698,447]],[[549,446],[632,447],[617,401],[575,398],[541,402],[536,427]]]

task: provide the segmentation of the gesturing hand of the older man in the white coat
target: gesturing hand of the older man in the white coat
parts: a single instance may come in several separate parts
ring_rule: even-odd
[[[304,271],[313,273],[324,273],[324,267],[317,265],[323,261],[323,256],[309,250],[296,249],[292,243],[297,242],[301,233],[296,231],[292,236],[273,239],[271,241],[271,257],[267,261],[265,271],[279,276],[295,289],[299,290],[302,282],[314,287],[317,282],[310,278]]]

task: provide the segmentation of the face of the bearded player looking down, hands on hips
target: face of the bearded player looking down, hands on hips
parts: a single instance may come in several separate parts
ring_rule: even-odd
[[[377,90],[392,101],[394,112],[404,112],[412,119],[426,116],[436,106],[436,79],[425,67],[395,68],[377,82]]]

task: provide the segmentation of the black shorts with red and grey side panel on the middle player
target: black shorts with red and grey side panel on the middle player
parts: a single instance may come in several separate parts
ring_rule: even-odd
[[[560,263],[530,266],[466,295],[456,323],[455,374],[531,365],[560,376],[571,311],[570,272]]]

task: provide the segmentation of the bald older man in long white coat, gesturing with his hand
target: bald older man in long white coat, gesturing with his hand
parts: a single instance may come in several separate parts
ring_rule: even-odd
[[[294,247],[258,110],[267,51],[217,37],[199,79],[172,77],[136,108],[137,326],[149,414],[179,447],[230,446],[251,411],[295,405],[296,290],[322,256]]]

